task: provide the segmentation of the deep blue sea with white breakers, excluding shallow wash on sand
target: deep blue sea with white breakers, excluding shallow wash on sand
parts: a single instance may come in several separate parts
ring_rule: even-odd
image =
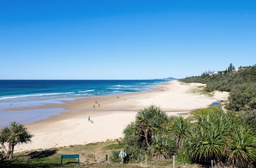
[[[167,80],[0,80],[0,103],[150,91]]]

